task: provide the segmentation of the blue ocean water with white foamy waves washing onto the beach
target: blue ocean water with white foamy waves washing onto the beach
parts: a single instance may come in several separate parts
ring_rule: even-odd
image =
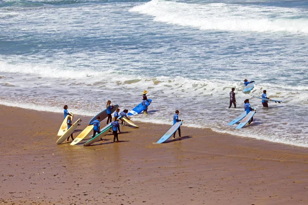
[[[180,110],[184,126],[308,147],[307,72],[307,1],[0,1],[0,104],[61,120],[64,105],[130,110],[148,90],[149,115],[134,120],[171,125]],[[263,109],[252,96],[264,89],[283,104]],[[246,98],[254,122],[227,126]]]

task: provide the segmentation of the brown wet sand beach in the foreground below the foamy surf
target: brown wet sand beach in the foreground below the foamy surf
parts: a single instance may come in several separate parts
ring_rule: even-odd
[[[153,144],[170,126],[138,121],[118,143],[109,133],[56,145],[63,114],[0,106],[0,116],[2,203],[308,204],[306,148],[185,124],[181,139]],[[79,117],[81,131],[90,117]]]

